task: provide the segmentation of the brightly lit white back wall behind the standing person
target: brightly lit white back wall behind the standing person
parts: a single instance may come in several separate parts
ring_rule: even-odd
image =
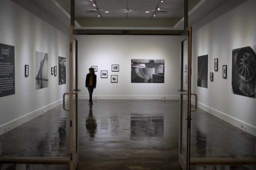
[[[91,66],[98,66],[97,99],[179,99],[180,37],[159,35],[80,35],[79,99],[89,99],[85,76]],[[164,59],[164,83],[131,83],[131,59]],[[112,64],[119,64],[119,72],[112,72]],[[108,78],[100,78],[100,71],[108,71]],[[111,75],[118,82],[111,83]]]

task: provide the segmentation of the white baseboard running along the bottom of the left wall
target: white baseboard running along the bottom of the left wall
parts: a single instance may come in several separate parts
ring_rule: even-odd
[[[69,101],[69,96],[65,97],[65,101]],[[61,104],[63,104],[63,99],[58,100],[54,103],[51,103],[51,104],[49,104],[45,107],[42,107],[40,109],[37,109],[33,112],[30,112],[30,113],[28,113],[24,116],[21,116],[21,117],[15,119],[15,120],[12,120],[11,122],[8,122],[6,124],[1,125],[0,126],[0,135],[3,135],[4,133],[7,133],[8,131],[10,131],[10,130],[12,130],[12,129],[28,122],[28,121],[30,121],[31,119],[33,119],[33,118],[51,110],[51,109],[53,109],[53,108],[55,108],[55,107],[57,107]],[[43,111],[43,112],[40,114],[40,111]],[[10,129],[8,128],[9,126],[10,126]],[[5,128],[7,128],[7,131],[5,131]]]

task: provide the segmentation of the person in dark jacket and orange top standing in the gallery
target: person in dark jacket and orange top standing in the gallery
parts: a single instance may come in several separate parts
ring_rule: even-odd
[[[85,79],[85,87],[87,87],[88,92],[89,92],[89,97],[90,97],[90,104],[92,104],[92,92],[93,89],[96,88],[96,79],[97,76],[94,72],[93,68],[89,68],[89,73],[86,75],[86,79]]]

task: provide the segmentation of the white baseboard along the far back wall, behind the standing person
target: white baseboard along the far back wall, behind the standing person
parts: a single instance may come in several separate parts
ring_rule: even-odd
[[[79,99],[89,99],[89,95],[79,95]],[[93,95],[92,99],[112,99],[112,100],[179,100],[179,95],[164,95],[164,96],[152,96],[152,95]]]

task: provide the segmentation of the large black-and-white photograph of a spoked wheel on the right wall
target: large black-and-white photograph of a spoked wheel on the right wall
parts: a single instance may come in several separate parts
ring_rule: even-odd
[[[232,93],[255,98],[256,46],[232,50]]]

